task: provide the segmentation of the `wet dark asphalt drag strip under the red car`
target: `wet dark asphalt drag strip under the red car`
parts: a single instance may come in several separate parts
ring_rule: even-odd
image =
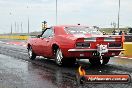
[[[1,40],[8,42],[9,40]],[[0,42],[0,88],[132,88],[128,84],[85,84],[77,85],[76,73],[79,65],[58,67],[53,60],[37,57],[28,59],[24,46],[7,45]],[[111,58],[106,66],[83,64],[87,74],[130,74],[132,60]]]

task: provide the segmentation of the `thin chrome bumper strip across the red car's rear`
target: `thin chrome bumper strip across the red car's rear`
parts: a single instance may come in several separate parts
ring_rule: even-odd
[[[108,49],[108,51],[124,51],[125,49]],[[69,52],[91,52],[97,51],[97,49],[69,49]]]

